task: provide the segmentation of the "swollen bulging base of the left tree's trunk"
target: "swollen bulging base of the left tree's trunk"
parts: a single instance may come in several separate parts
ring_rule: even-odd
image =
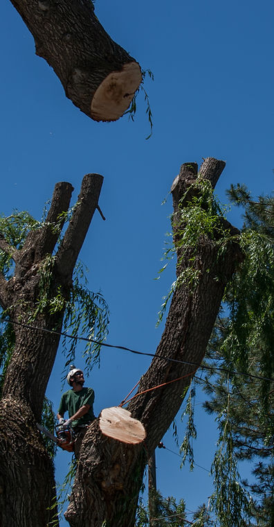
[[[53,463],[33,412],[19,399],[0,404],[0,525],[47,527],[57,513]]]

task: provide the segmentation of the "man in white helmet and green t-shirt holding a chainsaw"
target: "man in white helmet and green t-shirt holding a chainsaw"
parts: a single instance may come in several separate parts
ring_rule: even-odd
[[[59,424],[65,428],[72,427],[75,435],[74,453],[75,458],[79,458],[82,440],[87,431],[87,427],[93,420],[94,391],[92,388],[83,388],[84,373],[75,365],[71,365],[66,380],[71,386],[71,390],[63,393],[57,413]],[[64,413],[69,412],[69,419],[64,419]]]

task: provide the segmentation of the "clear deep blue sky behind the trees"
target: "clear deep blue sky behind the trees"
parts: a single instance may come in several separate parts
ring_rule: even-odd
[[[170,197],[161,202],[180,165],[208,156],[226,160],[217,185],[224,202],[230,183],[245,183],[255,195],[273,189],[274,7],[270,0],[97,0],[95,12],[113,40],[154,74],[145,83],[153,135],[145,140],[142,93],[134,123],[127,116],[95,123],[73,106],[53,70],[35,56],[33,37],[12,4],[2,0],[0,211],[27,209],[41,218],[55,182],[71,182],[76,200],[85,173],[104,175],[100,207],[107,221],[95,214],[80,258],[89,267],[89,287],[109,303],[109,343],[154,352],[163,331],[155,328],[157,312],[174,280],[172,265],[154,280],[172,212]],[[229,219],[241,224],[239,211]],[[77,367],[84,366],[81,350]],[[60,349],[48,386],[56,409],[63,364]],[[103,349],[100,369],[86,381],[95,389],[95,413],[119,404],[148,365],[148,358]],[[201,396],[195,456],[209,469],[216,431],[200,403]],[[176,451],[172,433],[165,444]],[[180,471],[176,455],[156,455],[165,496],[185,498],[190,510],[207,503],[206,471]],[[68,459],[59,453],[59,480]]]

